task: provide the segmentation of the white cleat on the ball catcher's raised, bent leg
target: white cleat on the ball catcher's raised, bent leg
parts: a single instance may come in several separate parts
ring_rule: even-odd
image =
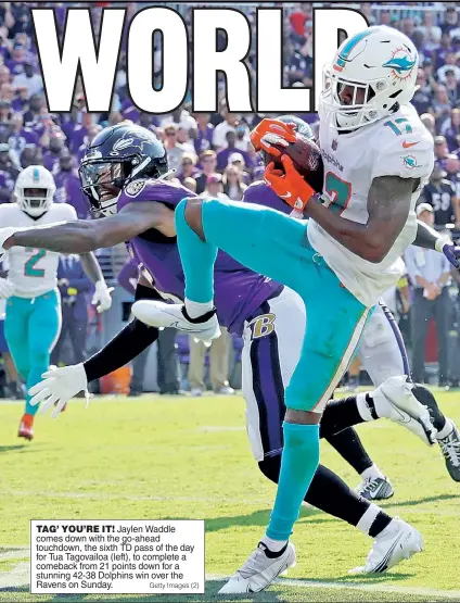
[[[132,304],[132,314],[150,327],[173,327],[193,335],[202,341],[210,341],[220,337],[220,327],[216,313],[208,312],[204,322],[191,319],[183,313],[184,305],[152,300],[139,300]]]

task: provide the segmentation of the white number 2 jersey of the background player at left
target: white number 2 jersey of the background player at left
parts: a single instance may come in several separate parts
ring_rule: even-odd
[[[0,205],[0,228],[5,226],[43,226],[56,222],[78,219],[77,213],[67,203],[53,203],[38,219],[25,214],[16,203]],[[12,247],[7,254],[8,278],[16,286],[15,296],[36,298],[55,289],[60,254],[55,251],[31,247]]]

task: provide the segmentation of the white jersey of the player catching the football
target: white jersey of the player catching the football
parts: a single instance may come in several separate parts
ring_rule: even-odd
[[[414,108],[408,104],[388,117],[347,134],[338,134],[332,121],[320,112],[319,138],[324,163],[322,199],[341,217],[359,224],[368,222],[368,193],[372,180],[379,176],[420,178],[406,226],[380,264],[359,257],[314,219],[309,221],[311,246],[341,282],[369,307],[403,275],[400,256],[417,235],[416,202],[433,171],[433,137]]]

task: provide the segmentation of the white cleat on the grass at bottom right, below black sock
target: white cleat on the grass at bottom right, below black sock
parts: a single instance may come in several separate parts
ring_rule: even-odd
[[[349,574],[383,574],[421,551],[422,535],[399,517],[395,517],[375,538],[366,565],[350,569]]]

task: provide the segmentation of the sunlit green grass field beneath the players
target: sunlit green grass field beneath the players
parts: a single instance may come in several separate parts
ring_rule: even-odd
[[[460,393],[439,393],[460,424]],[[213,601],[267,525],[274,487],[259,474],[240,397],[75,400],[59,419],[39,416],[36,439],[16,438],[18,403],[0,404],[1,601]],[[305,508],[293,542],[297,566],[270,589],[241,601],[460,600],[460,485],[438,448],[381,420],[358,427],[395,497],[385,510],[412,523],[425,550],[389,574],[348,576],[371,539]],[[352,486],[358,476],[322,444],[322,462]],[[30,595],[29,519],[206,519],[204,595]],[[221,599],[220,599],[221,600]]]

